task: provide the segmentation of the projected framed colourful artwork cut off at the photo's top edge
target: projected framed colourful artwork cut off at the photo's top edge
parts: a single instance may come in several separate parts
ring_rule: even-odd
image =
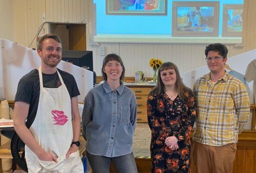
[[[167,0],[106,0],[108,15],[166,15]]]

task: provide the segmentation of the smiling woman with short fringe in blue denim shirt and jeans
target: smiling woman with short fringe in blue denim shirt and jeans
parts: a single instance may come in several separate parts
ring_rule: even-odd
[[[118,172],[137,172],[132,153],[137,103],[124,86],[125,67],[119,55],[108,54],[102,65],[101,85],[91,89],[82,114],[86,154],[93,173],[109,172],[112,162]]]

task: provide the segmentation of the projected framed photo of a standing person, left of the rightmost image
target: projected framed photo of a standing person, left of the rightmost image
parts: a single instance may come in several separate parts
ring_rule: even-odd
[[[218,36],[220,1],[173,1],[172,36]]]

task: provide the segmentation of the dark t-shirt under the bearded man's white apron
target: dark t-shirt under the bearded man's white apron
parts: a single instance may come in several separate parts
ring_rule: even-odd
[[[69,91],[70,98],[80,95],[74,76],[59,69],[58,71]],[[42,73],[42,80],[45,88],[58,88],[62,85],[57,71],[52,75]],[[15,102],[22,101],[29,104],[28,121],[33,122],[35,119],[35,115],[38,110],[39,96],[39,73],[37,69],[34,69],[20,79],[15,96]]]

